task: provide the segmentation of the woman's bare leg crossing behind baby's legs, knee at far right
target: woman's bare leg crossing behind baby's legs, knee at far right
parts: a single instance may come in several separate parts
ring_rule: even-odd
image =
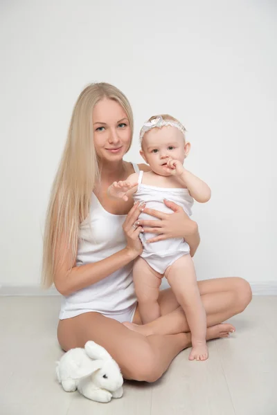
[[[251,301],[251,288],[249,283],[242,278],[229,277],[200,281],[198,287],[206,311],[208,327],[241,313]],[[184,311],[171,289],[161,291],[160,306],[162,316],[154,322],[145,324],[145,326],[126,323],[126,326],[143,335],[189,331]]]

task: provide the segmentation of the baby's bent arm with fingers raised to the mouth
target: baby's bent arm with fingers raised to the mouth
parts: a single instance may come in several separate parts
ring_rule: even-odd
[[[199,177],[190,173],[184,168],[179,160],[168,160],[166,170],[176,176],[177,180],[185,187],[187,187],[190,196],[199,203],[208,202],[211,199],[211,189]]]

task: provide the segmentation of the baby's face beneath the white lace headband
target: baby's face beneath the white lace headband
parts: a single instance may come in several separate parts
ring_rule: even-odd
[[[168,158],[184,163],[187,154],[183,133],[175,127],[152,128],[145,133],[141,143],[141,156],[153,172],[161,176],[170,176],[163,166]]]

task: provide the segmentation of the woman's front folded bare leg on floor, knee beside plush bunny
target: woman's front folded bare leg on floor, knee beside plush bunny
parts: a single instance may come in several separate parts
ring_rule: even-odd
[[[229,331],[228,324],[211,327],[207,330],[207,340],[227,337]],[[159,379],[175,356],[191,343],[190,333],[145,337],[99,313],[60,320],[57,338],[65,351],[84,347],[88,340],[93,340],[118,362],[125,379],[146,382]]]

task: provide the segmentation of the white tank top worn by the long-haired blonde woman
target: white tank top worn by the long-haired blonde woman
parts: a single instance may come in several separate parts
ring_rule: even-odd
[[[132,165],[139,173],[139,167]],[[80,224],[77,266],[98,262],[126,246],[122,225],[127,215],[107,212],[94,193],[90,213],[90,223],[86,219]],[[132,268],[133,261],[101,281],[63,297],[60,320],[89,311],[113,315],[132,308],[136,303]]]

